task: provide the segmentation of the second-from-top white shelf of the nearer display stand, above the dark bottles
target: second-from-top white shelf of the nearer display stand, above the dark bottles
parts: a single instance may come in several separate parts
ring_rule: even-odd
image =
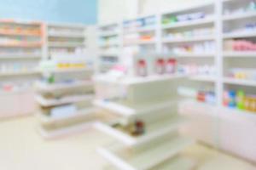
[[[125,101],[111,101],[103,99],[97,99],[93,103],[99,108],[113,111],[114,113],[121,116],[135,116],[137,114],[147,114],[148,112],[160,111],[164,108],[170,108],[172,105],[177,104],[177,99],[162,99],[147,102],[141,105],[131,105],[127,104]]]

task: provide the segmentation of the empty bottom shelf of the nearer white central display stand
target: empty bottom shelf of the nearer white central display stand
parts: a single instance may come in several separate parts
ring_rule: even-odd
[[[106,148],[99,148],[98,152],[119,169],[148,170],[177,156],[178,152],[193,143],[191,139],[176,138],[141,151],[132,151],[124,145],[113,144]]]

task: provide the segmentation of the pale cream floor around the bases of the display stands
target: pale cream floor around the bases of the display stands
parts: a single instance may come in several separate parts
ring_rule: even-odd
[[[1,170],[102,170],[107,164],[96,147],[113,141],[95,129],[67,138],[44,140],[37,120],[24,117],[0,122]],[[255,170],[251,164],[195,144],[185,151],[200,162],[200,170]]]

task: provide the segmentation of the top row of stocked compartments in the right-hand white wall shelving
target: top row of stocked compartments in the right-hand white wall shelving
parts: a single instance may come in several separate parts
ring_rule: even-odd
[[[224,21],[236,20],[252,20],[250,26],[255,27],[253,22],[256,16],[256,3],[252,0],[238,1],[238,0],[224,0],[222,15],[219,16]],[[229,3],[226,3],[229,2]],[[122,24],[109,24],[99,26],[101,37],[113,37],[119,33],[131,33],[142,31],[155,31],[160,17],[161,29],[178,29],[185,26],[207,26],[214,25],[215,18],[215,4],[201,3],[189,8],[181,8],[173,10],[172,12],[162,13],[160,15],[142,16],[134,20],[124,20]],[[218,18],[219,18],[218,17]],[[123,28],[121,32],[120,28]]]

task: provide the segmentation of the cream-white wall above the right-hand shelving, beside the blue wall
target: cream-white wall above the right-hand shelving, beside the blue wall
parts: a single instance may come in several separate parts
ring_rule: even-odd
[[[201,0],[99,0],[98,21],[111,23],[137,14],[155,14],[195,3],[201,3]]]

